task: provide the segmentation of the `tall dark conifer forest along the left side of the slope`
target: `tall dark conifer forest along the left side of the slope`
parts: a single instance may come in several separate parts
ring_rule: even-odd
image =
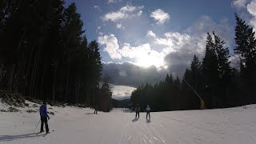
[[[87,42],[74,3],[0,1],[0,86],[30,98],[110,110],[98,42]]]

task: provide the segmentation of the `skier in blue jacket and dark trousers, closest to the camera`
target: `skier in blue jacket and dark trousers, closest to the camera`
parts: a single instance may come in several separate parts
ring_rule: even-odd
[[[47,103],[46,101],[42,102],[42,106],[40,106],[40,117],[41,117],[41,130],[40,133],[43,132],[43,124],[46,125],[46,134],[50,133],[49,132],[49,127],[47,123],[47,118],[48,120],[50,119],[49,115],[47,114]]]

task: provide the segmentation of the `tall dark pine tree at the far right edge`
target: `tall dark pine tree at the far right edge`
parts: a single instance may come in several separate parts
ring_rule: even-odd
[[[234,53],[240,56],[240,70],[243,78],[243,89],[246,94],[246,102],[256,102],[254,96],[256,90],[256,38],[253,28],[235,14],[237,26],[235,26]]]

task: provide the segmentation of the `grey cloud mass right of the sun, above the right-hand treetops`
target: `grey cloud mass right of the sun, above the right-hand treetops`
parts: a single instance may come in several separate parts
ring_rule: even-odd
[[[161,53],[164,55],[167,70],[182,77],[186,67],[190,66],[194,54],[202,59],[205,53],[207,32],[215,31],[215,34],[226,41],[226,46],[230,46],[232,29],[228,23],[226,19],[216,23],[210,17],[202,16],[184,33],[166,32],[164,37],[154,38],[156,45],[164,46]]]

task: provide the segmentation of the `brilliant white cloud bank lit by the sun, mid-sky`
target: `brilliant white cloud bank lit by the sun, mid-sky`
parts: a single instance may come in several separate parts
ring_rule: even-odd
[[[138,66],[157,66],[158,68],[164,66],[164,55],[156,50],[152,50],[149,43],[144,43],[139,46],[131,46],[130,43],[123,43],[122,47],[118,45],[118,39],[114,34],[101,35],[98,37],[98,42],[106,46],[106,51],[110,58],[130,58]]]

